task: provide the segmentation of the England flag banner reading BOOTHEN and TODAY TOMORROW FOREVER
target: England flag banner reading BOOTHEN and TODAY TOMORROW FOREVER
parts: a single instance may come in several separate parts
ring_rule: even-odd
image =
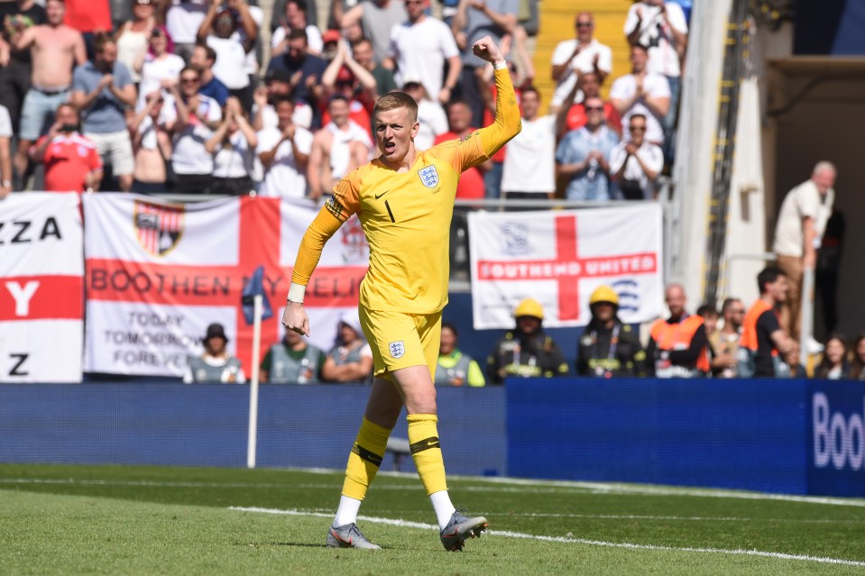
[[[86,371],[181,376],[203,352],[207,325],[219,323],[250,374],[253,326],[242,295],[260,266],[255,282],[273,308],[262,322],[262,355],[281,340],[294,258],[317,215],[311,203],[234,197],[183,205],[99,194],[85,198],[84,211]],[[313,344],[333,345],[339,315],[357,308],[368,261],[352,218],[327,243],[307,289]]]

